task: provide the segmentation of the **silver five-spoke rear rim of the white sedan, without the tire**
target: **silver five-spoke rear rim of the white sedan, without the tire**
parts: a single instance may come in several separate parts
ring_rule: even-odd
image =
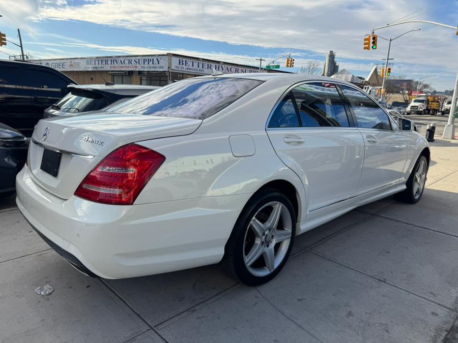
[[[261,207],[252,217],[245,232],[243,258],[254,276],[272,273],[288,252],[293,220],[288,208],[278,201]]]

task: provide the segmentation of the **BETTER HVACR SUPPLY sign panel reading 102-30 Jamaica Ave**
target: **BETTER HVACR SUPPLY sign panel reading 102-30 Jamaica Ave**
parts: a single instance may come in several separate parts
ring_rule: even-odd
[[[173,56],[171,58],[170,70],[186,74],[212,74],[213,71],[223,74],[232,73],[257,73],[257,68],[237,67],[222,63],[212,63],[198,59],[181,58]]]

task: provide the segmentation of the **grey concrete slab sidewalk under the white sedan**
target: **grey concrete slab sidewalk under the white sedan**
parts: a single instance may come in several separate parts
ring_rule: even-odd
[[[270,283],[219,266],[86,277],[0,201],[0,341],[457,341],[458,144],[432,143],[416,205],[386,198],[296,239]],[[40,296],[34,289],[50,284]],[[458,323],[458,321],[457,321]]]

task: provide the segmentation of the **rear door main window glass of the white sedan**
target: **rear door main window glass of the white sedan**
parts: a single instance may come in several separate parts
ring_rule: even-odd
[[[293,89],[303,127],[349,127],[344,102],[333,83],[304,83]]]

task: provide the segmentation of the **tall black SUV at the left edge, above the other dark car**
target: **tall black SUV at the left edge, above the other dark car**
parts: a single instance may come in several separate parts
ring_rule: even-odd
[[[30,62],[0,60],[0,122],[32,136],[45,108],[75,83],[55,69]]]

